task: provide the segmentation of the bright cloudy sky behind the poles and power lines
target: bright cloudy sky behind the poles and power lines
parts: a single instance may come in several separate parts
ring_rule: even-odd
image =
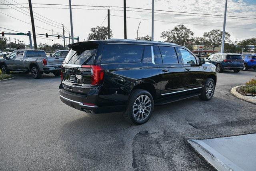
[[[0,4],[16,4],[16,2],[23,7],[28,7],[28,0],[0,0]],[[61,24],[64,24],[66,30],[65,34],[67,34],[67,30],[70,29],[68,6],[42,5],[36,3],[68,5],[68,0],[32,0],[34,16],[37,18],[37,20],[34,20],[37,26],[36,33],[52,34],[53,29],[53,34],[62,34]],[[155,0],[154,4],[155,10],[172,11],[155,11],[154,40],[156,41],[163,41],[163,39],[160,38],[161,33],[165,30],[173,29],[174,26],[178,24],[184,24],[187,28],[190,28],[190,30],[194,32],[194,36],[202,36],[204,32],[208,32],[212,29],[222,30],[223,17],[213,15],[224,15],[224,0]],[[4,29],[8,28],[18,32],[28,32],[28,30],[32,32],[30,16],[27,13],[29,10],[27,8],[21,8],[21,5],[0,5],[1,31],[13,32]],[[101,24],[102,26],[107,26],[107,19],[104,20],[107,15],[107,9],[110,9],[110,14],[112,15],[110,16],[110,28],[112,29],[114,38],[124,38],[123,11],[122,8],[118,8],[123,6],[123,0],[72,0],[72,5],[93,6],[72,6],[74,36],[79,36],[80,41],[87,39],[90,28],[100,26]],[[107,8],[107,6],[114,7]],[[140,21],[139,36],[151,35],[151,11],[134,8],[150,9],[152,8],[152,0],[126,0],[126,6],[133,7],[127,8],[126,12],[126,16],[128,17],[127,38],[136,38]],[[232,19],[234,17],[227,18],[226,32],[231,34],[232,41],[256,37],[256,19],[250,19],[256,18],[255,9],[256,0],[228,0],[227,16],[248,17],[240,19]],[[184,14],[177,12],[200,14]],[[10,37],[11,42],[14,42],[14,38],[16,38],[29,44],[27,36],[6,35],[6,37]],[[58,40],[54,38],[52,41],[51,38],[46,39],[38,37],[37,43],[39,44],[40,42],[47,44],[63,44],[63,40],[61,39]]]

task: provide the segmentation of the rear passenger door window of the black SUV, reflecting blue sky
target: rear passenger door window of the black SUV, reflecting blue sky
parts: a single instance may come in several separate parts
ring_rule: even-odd
[[[178,64],[178,58],[174,47],[159,46],[164,64]]]

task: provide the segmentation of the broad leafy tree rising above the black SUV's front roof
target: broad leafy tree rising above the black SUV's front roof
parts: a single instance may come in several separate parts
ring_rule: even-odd
[[[194,33],[186,28],[183,24],[175,26],[174,29],[162,32],[161,38],[166,39],[165,42],[172,42],[183,45],[184,42],[191,42]]]

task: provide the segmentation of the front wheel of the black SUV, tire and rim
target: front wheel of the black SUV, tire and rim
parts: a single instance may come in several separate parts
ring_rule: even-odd
[[[210,82],[212,84],[210,84]],[[209,85],[213,85],[213,88],[210,87]],[[201,100],[210,100],[212,99],[213,95],[214,95],[214,91],[215,91],[215,83],[214,83],[214,80],[212,80],[212,78],[207,78],[205,84],[204,84],[204,87],[202,88],[201,90],[201,95],[199,95],[199,98]],[[209,95],[209,93],[212,92],[211,95]]]

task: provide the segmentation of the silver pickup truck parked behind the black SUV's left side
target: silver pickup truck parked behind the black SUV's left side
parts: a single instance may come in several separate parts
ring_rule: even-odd
[[[61,74],[61,64],[64,56],[46,57],[43,50],[15,50],[9,56],[0,59],[2,73],[10,71],[32,74],[33,78],[40,78],[42,74]]]

